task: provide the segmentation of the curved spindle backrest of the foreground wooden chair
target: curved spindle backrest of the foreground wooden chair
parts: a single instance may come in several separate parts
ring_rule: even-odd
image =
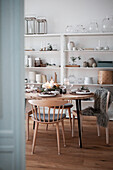
[[[36,121],[47,123],[58,121],[63,116],[64,104],[67,101],[64,100],[29,100],[32,106],[33,118]],[[38,114],[37,114],[38,113]],[[57,113],[57,117],[56,117]],[[50,119],[52,114],[52,120]],[[37,117],[38,116],[38,117]],[[43,117],[42,117],[43,116]]]

